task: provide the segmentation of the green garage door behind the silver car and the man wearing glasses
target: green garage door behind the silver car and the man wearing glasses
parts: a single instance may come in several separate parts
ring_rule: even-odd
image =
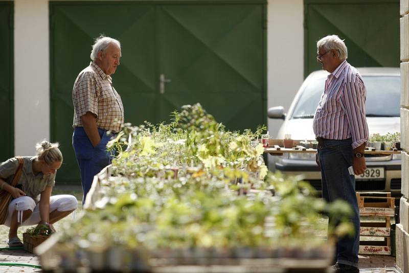
[[[305,66],[316,62],[316,41],[327,34],[345,39],[348,61],[359,66],[399,66],[399,0],[305,0]]]

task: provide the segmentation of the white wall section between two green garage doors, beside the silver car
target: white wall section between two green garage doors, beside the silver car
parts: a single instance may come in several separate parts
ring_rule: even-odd
[[[286,112],[304,80],[303,0],[268,0],[267,14],[267,108]],[[272,138],[282,123],[268,120]]]

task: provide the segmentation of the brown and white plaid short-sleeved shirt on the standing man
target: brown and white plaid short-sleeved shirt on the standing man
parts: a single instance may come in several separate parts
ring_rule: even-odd
[[[73,127],[83,126],[81,116],[92,112],[97,116],[97,126],[119,132],[124,125],[124,106],[112,86],[112,78],[94,62],[80,72],[73,88]]]

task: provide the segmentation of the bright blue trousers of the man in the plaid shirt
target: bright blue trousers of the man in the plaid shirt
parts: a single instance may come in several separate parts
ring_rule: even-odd
[[[81,171],[82,204],[91,188],[94,176],[104,167],[111,164],[111,153],[106,150],[106,144],[112,135],[107,135],[105,129],[98,128],[101,138],[96,147],[91,144],[83,127],[76,127],[73,133],[73,147]]]

